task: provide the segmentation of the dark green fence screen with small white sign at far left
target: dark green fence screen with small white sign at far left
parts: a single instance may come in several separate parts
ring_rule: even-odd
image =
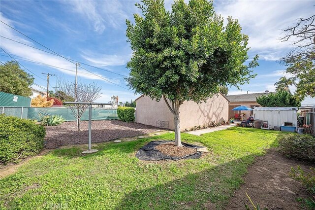
[[[0,92],[1,106],[31,106],[31,98]]]

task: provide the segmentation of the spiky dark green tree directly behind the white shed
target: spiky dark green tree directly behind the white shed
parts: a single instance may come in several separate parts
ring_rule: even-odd
[[[269,93],[256,98],[258,104],[263,107],[300,107],[301,99],[298,95],[292,95],[289,91],[281,90],[277,93]]]

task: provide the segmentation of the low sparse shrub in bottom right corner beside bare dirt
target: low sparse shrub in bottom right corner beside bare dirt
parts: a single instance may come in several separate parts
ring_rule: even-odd
[[[313,198],[300,199],[304,203],[306,209],[315,209],[315,168],[310,168],[310,170],[310,173],[306,173],[300,166],[298,166],[297,169],[292,167],[289,175],[291,178],[303,184],[307,191],[311,193]]]

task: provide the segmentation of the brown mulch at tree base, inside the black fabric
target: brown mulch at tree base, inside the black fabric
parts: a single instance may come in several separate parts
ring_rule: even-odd
[[[183,157],[186,155],[191,155],[191,154],[196,153],[196,149],[188,148],[185,146],[178,147],[175,145],[174,142],[163,143],[163,144],[157,145],[155,148],[158,149],[164,155],[169,155],[172,157]]]

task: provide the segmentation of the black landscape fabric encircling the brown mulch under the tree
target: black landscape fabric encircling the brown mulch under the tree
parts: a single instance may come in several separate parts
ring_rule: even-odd
[[[201,152],[196,151],[196,153],[191,155],[186,155],[183,157],[174,157],[169,156],[161,153],[158,149],[155,147],[162,143],[168,143],[168,142],[174,142],[170,140],[154,140],[150,141],[148,144],[141,147],[137,153],[136,157],[139,158],[139,160],[149,160],[149,161],[158,161],[158,160],[180,160],[180,159],[197,159],[200,158]],[[197,149],[197,148],[203,148],[203,146],[197,146],[189,143],[183,143],[183,146],[186,146],[188,148]]]

